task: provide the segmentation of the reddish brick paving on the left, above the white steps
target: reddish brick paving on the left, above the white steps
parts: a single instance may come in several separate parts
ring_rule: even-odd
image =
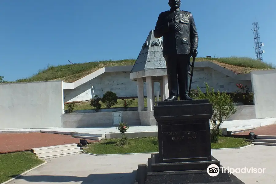
[[[0,153],[28,151],[32,148],[79,143],[79,138],[52,133],[0,133]],[[96,140],[87,140],[97,142]]]

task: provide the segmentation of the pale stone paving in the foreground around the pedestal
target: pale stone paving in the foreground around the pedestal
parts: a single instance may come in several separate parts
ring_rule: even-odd
[[[224,167],[266,168],[264,174],[235,174],[245,184],[276,183],[276,147],[250,146],[242,149],[213,150]],[[13,180],[11,184],[133,184],[138,164],[146,164],[150,154],[71,155],[47,159],[48,163]]]

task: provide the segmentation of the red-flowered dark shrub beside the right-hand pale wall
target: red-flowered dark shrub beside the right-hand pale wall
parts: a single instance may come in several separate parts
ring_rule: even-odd
[[[243,102],[244,105],[247,105],[253,100],[254,94],[249,91],[249,87],[247,85],[244,86],[243,84],[236,84],[236,86],[239,88],[239,90],[237,90],[234,95],[240,102]]]

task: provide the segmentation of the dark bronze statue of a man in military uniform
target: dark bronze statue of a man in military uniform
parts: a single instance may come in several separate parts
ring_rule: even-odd
[[[159,14],[154,36],[163,36],[163,57],[166,60],[169,98],[191,100],[188,94],[190,57],[197,56],[198,34],[192,13],[179,9],[180,0],[169,0],[171,10]],[[177,87],[178,86],[178,87]]]

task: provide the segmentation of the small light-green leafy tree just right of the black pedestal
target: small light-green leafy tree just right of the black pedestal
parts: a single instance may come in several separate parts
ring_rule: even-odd
[[[212,134],[211,141],[218,142],[218,136],[220,135],[220,125],[228,119],[232,114],[236,113],[236,107],[234,105],[231,96],[225,92],[215,93],[214,88],[210,87],[205,82],[206,94],[204,94],[197,86],[198,98],[209,99],[209,102],[213,104],[213,116],[211,117]]]

